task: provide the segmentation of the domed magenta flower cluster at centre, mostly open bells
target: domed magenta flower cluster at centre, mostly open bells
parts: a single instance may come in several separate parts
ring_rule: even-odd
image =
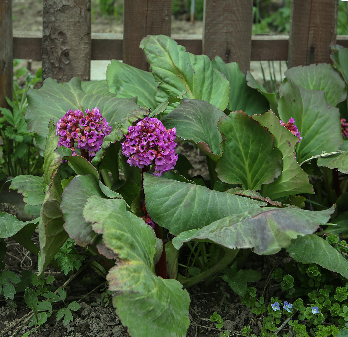
[[[130,126],[125,136],[122,153],[130,166],[152,165],[153,175],[158,177],[174,168],[178,158],[175,128],[166,130],[157,118],[145,117],[136,126]]]

